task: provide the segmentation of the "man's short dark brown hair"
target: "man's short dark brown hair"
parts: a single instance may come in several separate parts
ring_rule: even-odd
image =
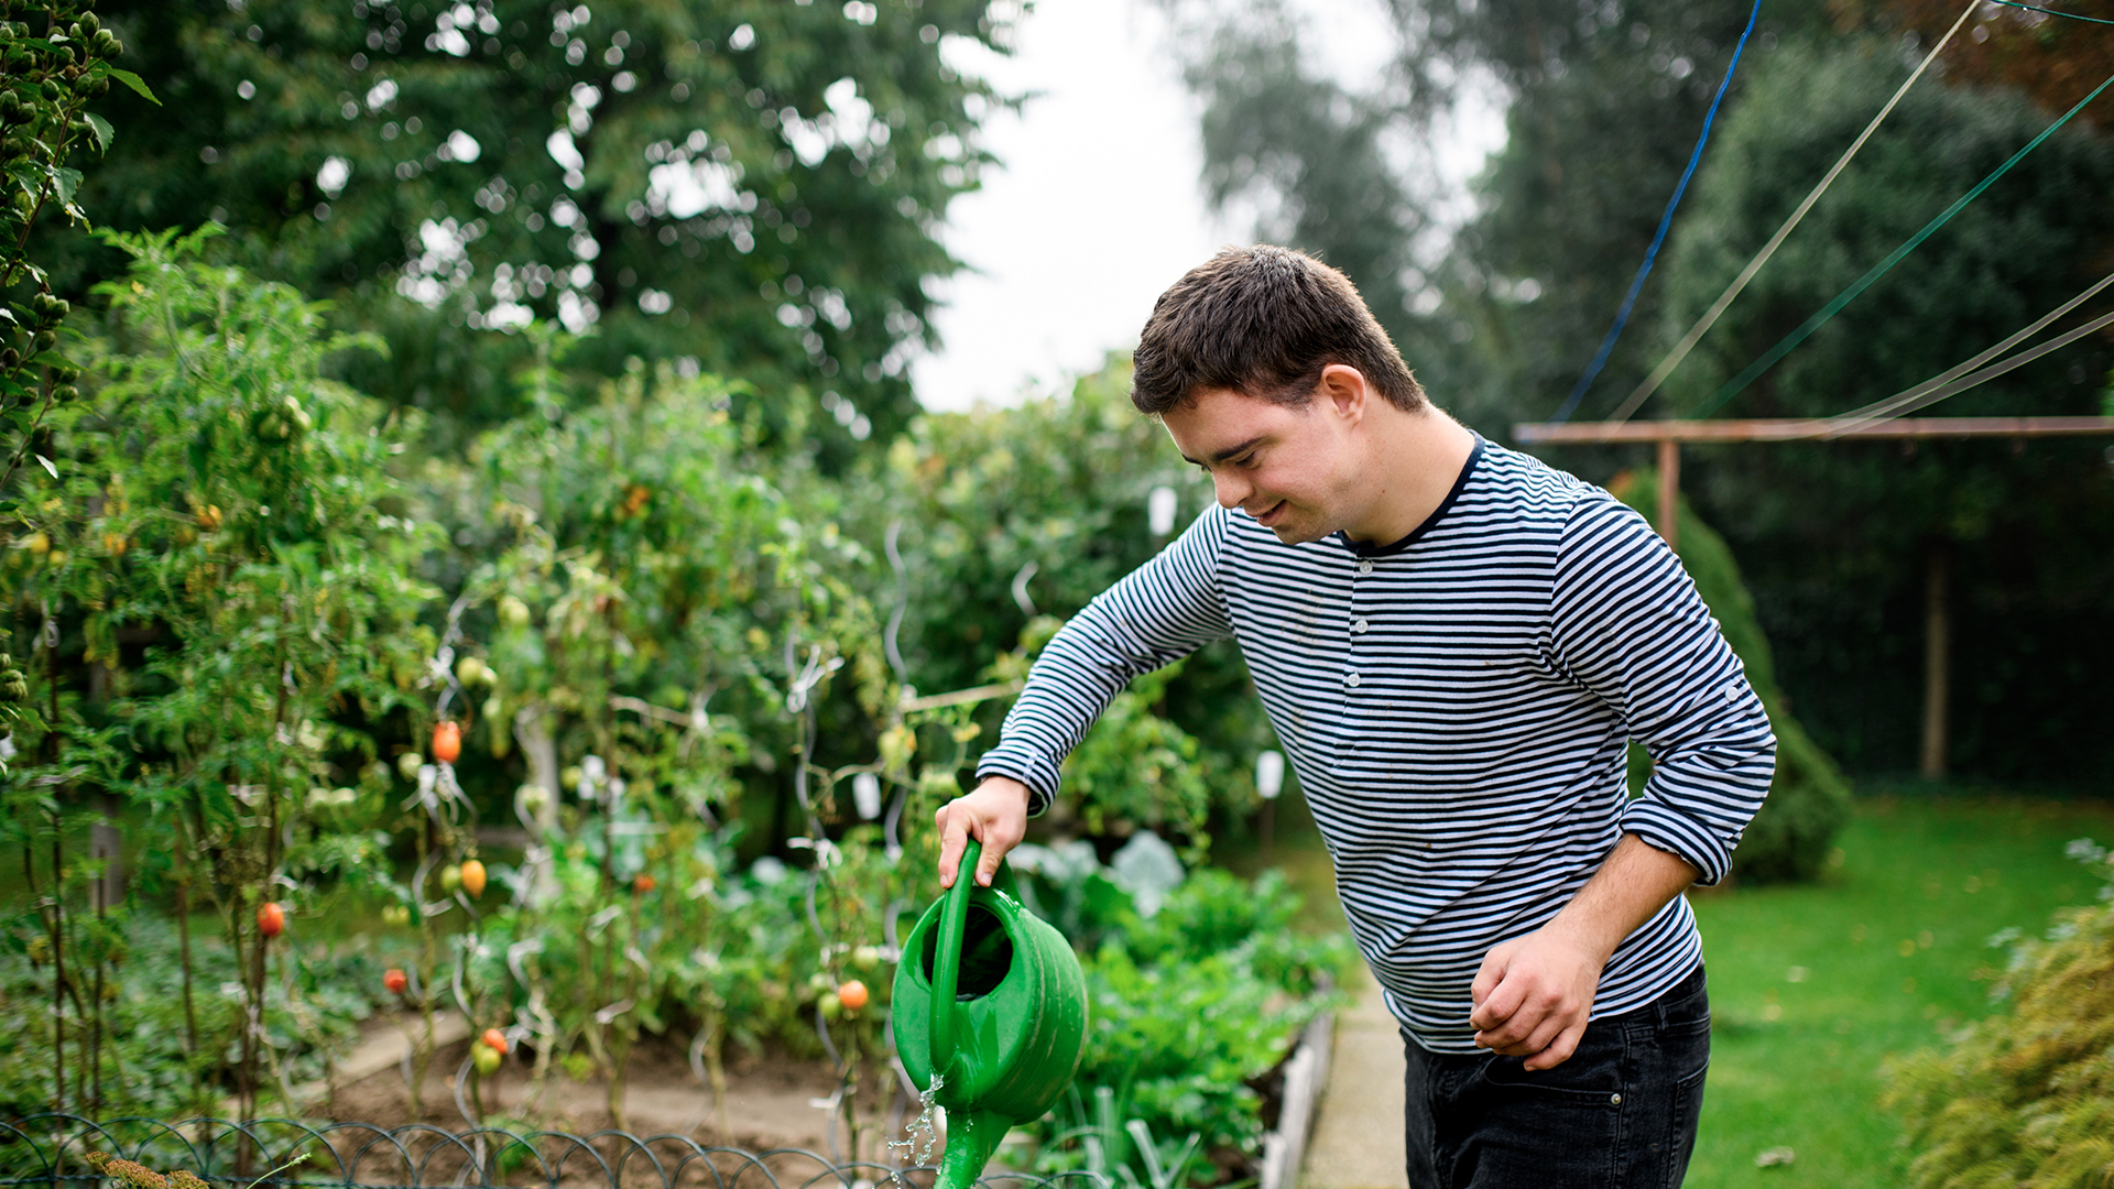
[[[1158,417],[1203,389],[1230,389],[1302,408],[1330,364],[1357,368],[1395,408],[1425,406],[1351,277],[1290,248],[1222,248],[1152,305],[1131,404]]]

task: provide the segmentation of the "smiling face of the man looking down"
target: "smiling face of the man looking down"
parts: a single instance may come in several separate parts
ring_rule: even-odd
[[[1211,476],[1222,508],[1241,508],[1277,539],[1300,544],[1334,533],[1355,514],[1359,413],[1325,391],[1302,408],[1287,408],[1230,389],[1203,389],[1161,421],[1182,457]]]

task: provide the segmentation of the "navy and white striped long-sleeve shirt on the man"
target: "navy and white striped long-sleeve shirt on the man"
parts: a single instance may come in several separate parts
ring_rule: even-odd
[[[1476,1051],[1469,984],[1547,922],[1624,831],[1725,876],[1776,736],[1681,561],[1607,491],[1478,440],[1408,537],[1287,546],[1211,508],[1042,650],[979,776],[1059,766],[1135,675],[1235,637],[1336,861],[1389,1009]],[[1653,757],[1628,795],[1628,740]],[[1687,899],[1632,933],[1594,1016],[1702,961]]]

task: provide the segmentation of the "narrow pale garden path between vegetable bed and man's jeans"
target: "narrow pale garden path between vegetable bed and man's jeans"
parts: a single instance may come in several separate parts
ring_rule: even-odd
[[[1402,1032],[1366,963],[1357,1003],[1336,1018],[1328,1090],[1306,1145],[1300,1189],[1408,1189],[1402,1153]]]

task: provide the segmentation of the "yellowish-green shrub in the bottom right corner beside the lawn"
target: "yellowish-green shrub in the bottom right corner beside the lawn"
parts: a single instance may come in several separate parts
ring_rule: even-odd
[[[2078,840],[2070,850],[2114,878],[2103,846]],[[2114,884],[2099,899],[2114,901]],[[1886,1102],[1905,1117],[1915,1151],[1909,1185],[2106,1185],[2114,1178],[2114,903],[2063,910],[2046,937],[2017,941],[1991,999],[2008,1011],[1888,1071]]]

